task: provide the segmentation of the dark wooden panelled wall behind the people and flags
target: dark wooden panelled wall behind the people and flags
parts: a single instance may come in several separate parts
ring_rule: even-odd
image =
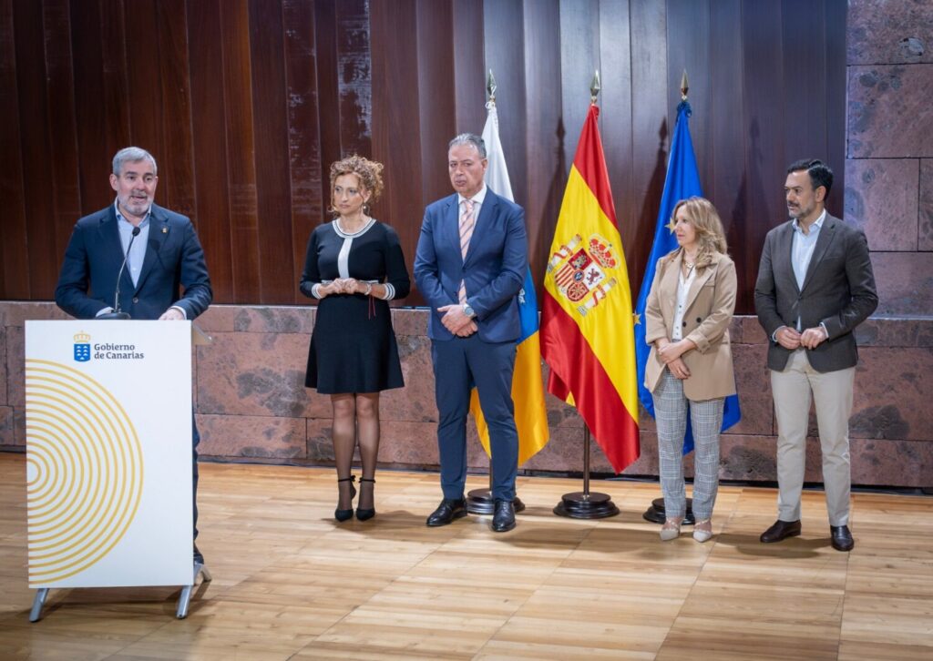
[[[157,201],[197,224],[218,303],[305,303],[305,244],[346,154],[384,162],[374,212],[411,263],[425,204],[450,191],[446,142],[482,129],[490,68],[537,281],[600,70],[637,289],[687,68],[703,188],[750,312],[787,159],[827,158],[841,211],[845,18],[844,0],[0,0],[0,297],[51,296],[130,144],[159,160]]]

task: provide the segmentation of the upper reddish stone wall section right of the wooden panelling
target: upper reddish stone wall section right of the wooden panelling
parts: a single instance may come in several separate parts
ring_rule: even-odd
[[[864,228],[878,314],[933,314],[933,3],[853,0],[845,211]]]

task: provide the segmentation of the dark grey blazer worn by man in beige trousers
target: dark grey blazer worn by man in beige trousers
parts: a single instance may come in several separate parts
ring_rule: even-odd
[[[827,213],[802,288],[790,262],[793,236],[793,221],[787,221],[765,237],[755,283],[759,323],[769,338],[781,326],[795,327],[798,316],[803,328],[825,324],[829,339],[806,350],[810,365],[817,372],[854,367],[858,351],[852,331],[878,307],[865,234]],[[770,342],[768,366],[783,370],[789,355]]]

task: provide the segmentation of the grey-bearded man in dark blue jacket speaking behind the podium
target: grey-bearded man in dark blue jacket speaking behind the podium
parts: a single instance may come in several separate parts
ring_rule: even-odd
[[[55,302],[77,319],[194,319],[211,304],[204,251],[191,221],[153,203],[156,159],[120,149],[110,186],[117,200],[77,221],[65,250]],[[179,289],[184,294],[179,294]],[[191,422],[194,537],[198,536],[198,434]],[[194,561],[204,558],[194,546]]]

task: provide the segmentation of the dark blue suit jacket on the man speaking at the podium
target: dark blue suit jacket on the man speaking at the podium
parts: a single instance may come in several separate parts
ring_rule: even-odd
[[[124,256],[117,223],[111,204],[78,220],[68,242],[55,302],[77,319],[93,319],[114,304]],[[133,319],[159,319],[172,306],[184,309],[189,320],[207,310],[213,292],[191,221],[153,204],[139,281],[133,286],[129,270],[124,269],[119,286],[120,308]]]

